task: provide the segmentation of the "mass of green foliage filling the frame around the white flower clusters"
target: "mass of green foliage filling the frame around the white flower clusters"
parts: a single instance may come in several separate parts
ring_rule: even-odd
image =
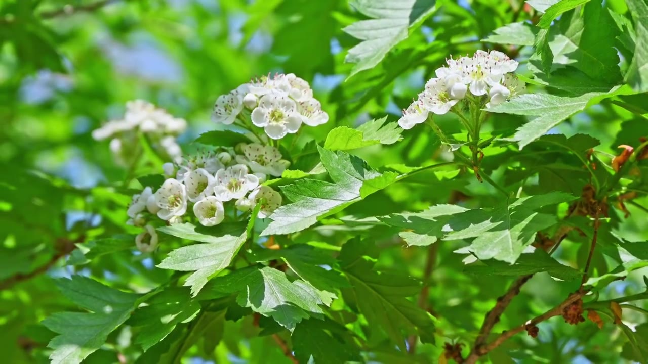
[[[566,216],[586,185],[610,206],[584,299],[603,328],[555,317],[537,339],[523,332],[481,360],[648,362],[648,161],[610,168],[620,144],[648,137],[645,0],[4,0],[0,45],[0,348],[10,363],[437,363],[444,343],[464,344],[466,358],[517,277],[536,273],[489,339],[579,288],[594,216]],[[448,163],[426,126],[394,123],[446,57],[477,49],[519,60],[530,91],[493,109],[480,135],[481,174],[503,194]],[[331,117],[305,130],[292,169],[321,160],[329,177],[312,178],[355,194],[303,209],[322,196],[301,187],[321,182],[295,174],[278,185],[295,202],[288,212],[308,220],[169,227],[156,253],[133,254],[132,177],[159,174],[162,161],[145,155],[126,171],[91,130],[143,98],[189,122],[180,141],[191,152],[222,129],[209,120],[218,95],[275,71],[308,80]],[[435,121],[463,137],[453,115]],[[358,163],[362,176],[345,174]],[[553,255],[520,256],[564,227]],[[180,269],[171,253],[236,251],[260,234],[282,249],[243,249],[226,271]],[[199,268],[220,273],[191,292],[185,273]],[[622,324],[608,300],[622,303]]]

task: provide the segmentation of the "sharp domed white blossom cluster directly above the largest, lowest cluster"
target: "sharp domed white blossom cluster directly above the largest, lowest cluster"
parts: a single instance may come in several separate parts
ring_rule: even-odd
[[[264,76],[218,97],[212,119],[233,124],[244,109],[251,111],[253,126],[263,128],[272,139],[296,133],[301,124],[318,126],[329,121],[308,82],[293,73]]]

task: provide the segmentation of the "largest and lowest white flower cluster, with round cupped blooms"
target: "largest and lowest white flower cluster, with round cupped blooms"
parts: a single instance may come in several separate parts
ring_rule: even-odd
[[[163,169],[168,178],[157,191],[146,187],[133,196],[128,223],[145,228],[135,240],[138,249],[153,251],[157,245],[156,231],[148,225],[154,215],[177,223],[190,210],[198,223],[214,226],[226,218],[227,203],[247,212],[260,201],[258,218],[270,216],[281,206],[281,194],[260,185],[268,175],[280,177],[288,167],[279,150],[262,144],[239,144],[235,150],[240,154],[203,152],[181,158],[177,165],[167,163]],[[230,210],[233,216],[237,214]]]

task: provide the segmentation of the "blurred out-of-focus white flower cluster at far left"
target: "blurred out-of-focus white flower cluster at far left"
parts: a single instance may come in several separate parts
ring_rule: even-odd
[[[92,137],[97,141],[111,138],[110,150],[115,159],[128,165],[140,148],[139,133],[144,133],[154,148],[174,159],[182,154],[176,137],[186,128],[185,119],[173,117],[150,102],[133,100],[126,103],[124,119],[107,122],[93,130]]]

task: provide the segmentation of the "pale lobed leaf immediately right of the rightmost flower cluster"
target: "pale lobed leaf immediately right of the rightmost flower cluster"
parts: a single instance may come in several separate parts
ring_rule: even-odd
[[[627,93],[627,89],[619,88],[610,93],[586,93],[579,97],[562,97],[548,94],[525,94],[513,98],[489,111],[493,113],[509,113],[516,115],[537,116],[527,122],[513,135],[513,141],[518,142],[520,149],[535,139],[544,135],[551,128],[573,114],[583,111],[588,105],[595,104],[603,98]]]

